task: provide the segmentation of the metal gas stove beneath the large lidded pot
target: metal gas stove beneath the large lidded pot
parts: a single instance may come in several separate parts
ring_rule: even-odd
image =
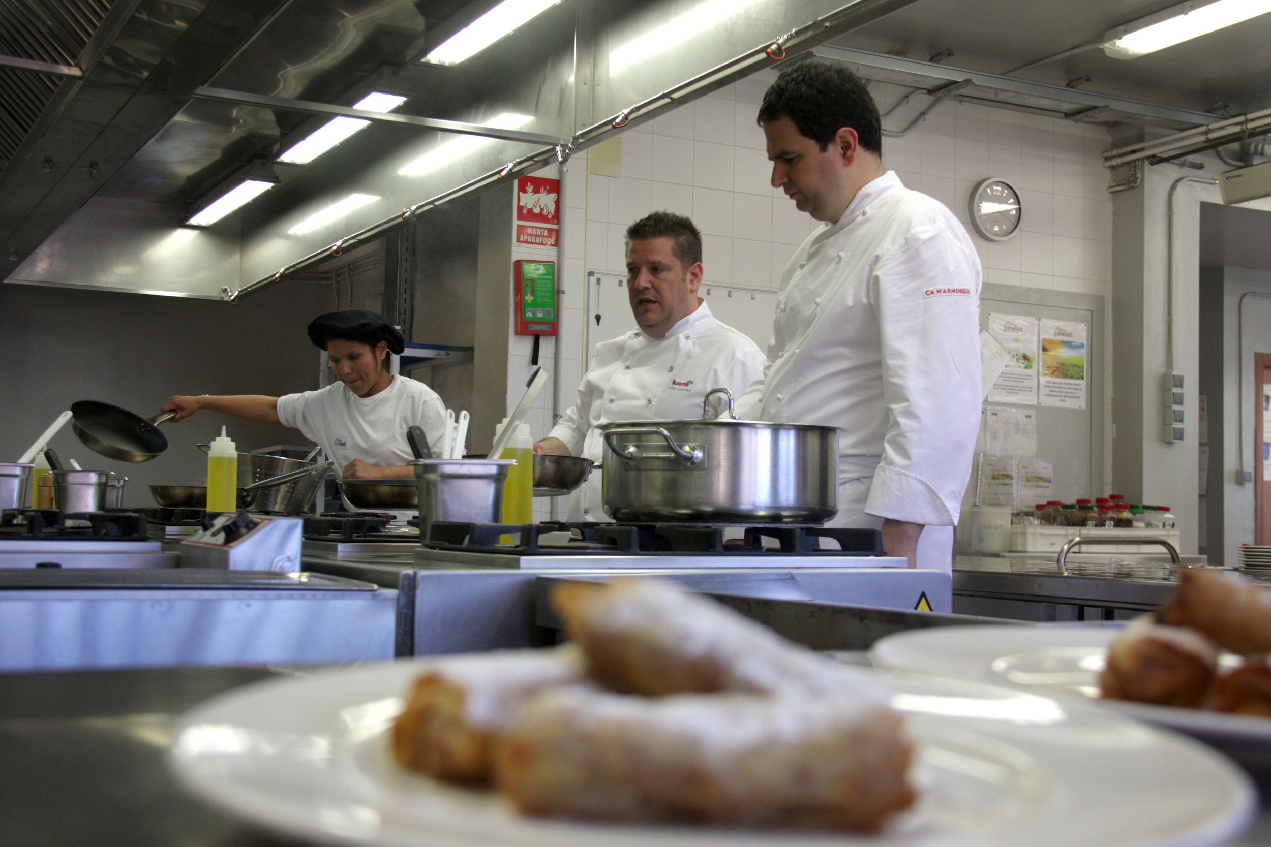
[[[346,555],[308,547],[305,570],[394,588],[400,654],[553,644],[539,621],[549,578],[669,579],[694,590],[796,603],[948,612],[949,575],[881,555],[874,530],[444,523],[422,545]],[[731,527],[728,528],[731,530]],[[822,550],[821,544],[839,549]]]

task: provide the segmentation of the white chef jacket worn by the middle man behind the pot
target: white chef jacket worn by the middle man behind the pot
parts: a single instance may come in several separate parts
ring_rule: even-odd
[[[662,338],[633,329],[596,344],[578,385],[578,401],[552,429],[573,456],[601,461],[605,441],[597,427],[616,420],[685,420],[702,417],[707,391],[726,387],[738,396],[764,368],[750,338],[716,320],[703,301]],[[569,497],[569,521],[608,521],[601,471]]]

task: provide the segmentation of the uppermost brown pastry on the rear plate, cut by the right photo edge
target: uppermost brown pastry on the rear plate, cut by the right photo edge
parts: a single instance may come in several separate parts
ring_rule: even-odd
[[[1181,570],[1178,590],[1159,616],[1164,624],[1199,630],[1232,653],[1271,653],[1271,589],[1234,571]]]

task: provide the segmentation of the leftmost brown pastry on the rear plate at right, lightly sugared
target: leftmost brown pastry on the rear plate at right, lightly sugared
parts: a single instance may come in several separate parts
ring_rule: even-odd
[[[1108,644],[1099,687],[1111,700],[1197,709],[1216,668],[1218,649],[1202,635],[1141,617]]]

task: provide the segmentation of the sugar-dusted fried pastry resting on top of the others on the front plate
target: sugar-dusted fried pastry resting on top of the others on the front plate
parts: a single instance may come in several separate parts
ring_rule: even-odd
[[[587,673],[611,691],[656,697],[862,690],[833,659],[672,584],[566,583],[552,603]]]

